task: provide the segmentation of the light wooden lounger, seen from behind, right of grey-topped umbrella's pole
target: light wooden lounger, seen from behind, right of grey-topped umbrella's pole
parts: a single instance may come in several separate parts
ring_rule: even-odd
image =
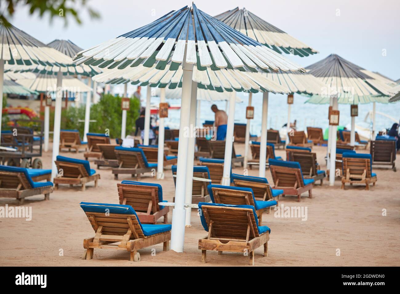
[[[354,156],[354,157],[350,157]],[[342,189],[345,184],[364,184],[365,190],[370,189],[370,184],[375,186],[376,174],[372,173],[371,162],[372,157],[370,154],[362,153],[344,153],[343,157],[343,176],[342,176]]]

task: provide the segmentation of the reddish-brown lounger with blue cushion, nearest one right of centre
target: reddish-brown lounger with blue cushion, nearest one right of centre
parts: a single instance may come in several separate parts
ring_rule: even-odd
[[[292,166],[298,166],[298,168],[293,168]],[[300,202],[301,194],[308,191],[308,197],[312,198],[314,180],[303,179],[301,167],[298,162],[280,162],[271,159],[270,170],[275,188],[284,190],[283,195],[295,195],[298,198],[298,202]],[[310,181],[309,184],[308,181]]]

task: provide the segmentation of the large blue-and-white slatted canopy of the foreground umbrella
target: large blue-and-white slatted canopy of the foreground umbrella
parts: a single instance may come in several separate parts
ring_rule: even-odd
[[[193,18],[193,19],[192,19]],[[195,4],[167,13],[158,20],[79,52],[76,64],[124,69],[142,64],[177,70],[184,59],[199,70],[301,70],[302,66],[216,20]]]

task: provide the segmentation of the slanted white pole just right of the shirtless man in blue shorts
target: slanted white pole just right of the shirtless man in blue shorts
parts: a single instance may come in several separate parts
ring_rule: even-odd
[[[224,171],[222,173],[222,185],[230,186],[230,170],[232,164],[233,128],[235,120],[236,91],[229,94],[228,126],[226,128]]]

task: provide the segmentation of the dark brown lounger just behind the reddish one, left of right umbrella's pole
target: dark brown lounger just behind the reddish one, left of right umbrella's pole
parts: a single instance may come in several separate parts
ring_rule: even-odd
[[[303,176],[306,179],[314,179],[314,185],[316,181],[324,182],[326,176],[325,171],[320,170],[320,166],[317,164],[317,155],[313,152],[292,152],[292,161],[300,163]]]

